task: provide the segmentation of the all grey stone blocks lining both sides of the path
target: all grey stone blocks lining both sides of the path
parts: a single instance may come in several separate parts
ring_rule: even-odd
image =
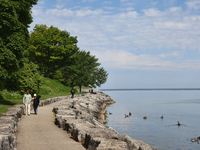
[[[95,91],[83,95],[54,97],[40,102],[40,107],[66,99],[53,108],[55,124],[82,142],[88,150],[156,150],[143,141],[122,135],[105,126],[105,107],[115,103],[110,96]],[[32,108],[32,103],[31,103]],[[0,117],[0,150],[16,150],[17,122],[23,119],[24,105],[9,108]]]

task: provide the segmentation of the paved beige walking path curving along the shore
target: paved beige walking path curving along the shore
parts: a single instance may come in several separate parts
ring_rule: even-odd
[[[31,110],[30,116],[23,116],[16,134],[18,150],[85,150],[54,124],[52,109],[65,100],[38,107],[37,115]]]

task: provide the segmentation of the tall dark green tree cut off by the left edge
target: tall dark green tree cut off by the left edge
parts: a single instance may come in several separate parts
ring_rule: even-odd
[[[0,89],[9,76],[23,67],[28,47],[31,8],[38,0],[0,1]]]

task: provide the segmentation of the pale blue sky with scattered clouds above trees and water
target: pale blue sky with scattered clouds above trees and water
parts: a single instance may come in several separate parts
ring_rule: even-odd
[[[200,88],[200,0],[39,0],[33,22],[77,36],[108,88]]]

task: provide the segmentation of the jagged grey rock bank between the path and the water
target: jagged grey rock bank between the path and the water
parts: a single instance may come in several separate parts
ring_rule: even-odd
[[[115,101],[102,92],[67,99],[53,108],[55,124],[82,142],[87,150],[156,150],[103,124],[105,107],[112,103]]]

